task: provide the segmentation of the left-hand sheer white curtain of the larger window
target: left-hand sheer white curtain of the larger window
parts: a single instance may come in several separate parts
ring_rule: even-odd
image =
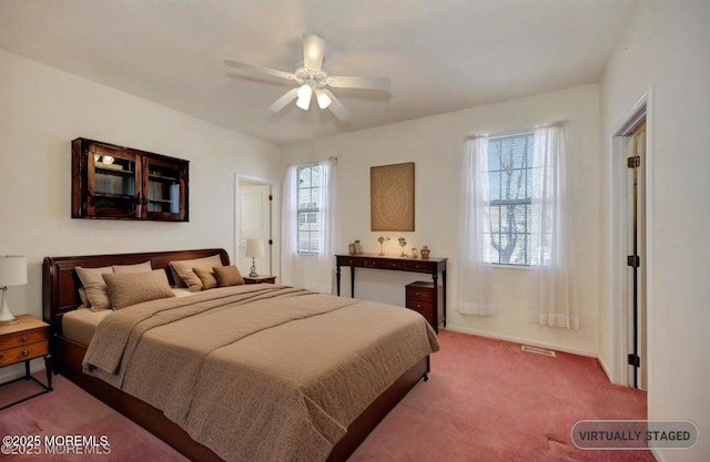
[[[493,315],[490,264],[490,216],[488,195],[488,138],[466,141],[462,168],[459,211],[458,311],[464,315]]]

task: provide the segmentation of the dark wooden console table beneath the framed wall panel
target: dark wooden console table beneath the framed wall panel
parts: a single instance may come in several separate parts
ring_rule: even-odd
[[[388,269],[393,271],[410,271],[410,273],[425,273],[432,275],[434,281],[433,296],[434,300],[439,299],[438,295],[438,278],[442,274],[442,301],[444,305],[443,319],[435,319],[434,325],[438,326],[443,324],[446,327],[446,261],[448,258],[399,258],[399,257],[381,257],[376,254],[359,254],[359,255],[336,255],[336,284],[337,295],[341,295],[341,267],[351,267],[351,297],[355,297],[355,268],[371,268],[371,269]],[[435,310],[438,311],[438,310]],[[438,316],[437,316],[438,318]]]

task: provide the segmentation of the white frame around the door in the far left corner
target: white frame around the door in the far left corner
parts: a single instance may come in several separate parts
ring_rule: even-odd
[[[271,247],[271,261],[268,261],[268,266],[271,268],[271,275],[281,277],[281,194],[280,194],[280,183],[272,179],[266,179],[252,175],[244,175],[236,173],[234,175],[234,229],[232,233],[233,238],[233,261],[236,265],[240,258],[240,233],[242,229],[242,199],[240,195],[240,183],[248,182],[260,185],[268,185],[271,187],[271,239],[273,245],[266,245],[266,250]]]

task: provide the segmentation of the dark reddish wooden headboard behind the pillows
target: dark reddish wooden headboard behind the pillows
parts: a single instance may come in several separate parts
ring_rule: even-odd
[[[151,261],[153,269],[166,269],[174,260],[190,260],[219,254],[223,265],[230,264],[230,256],[223,248],[197,250],[146,251],[141,254],[84,255],[74,257],[45,257],[42,263],[42,317],[52,326],[54,335],[61,332],[62,316],[81,305],[79,287],[81,281],[74,268],[100,268],[112,265],[134,265]],[[172,271],[166,270],[168,280],[174,284]]]

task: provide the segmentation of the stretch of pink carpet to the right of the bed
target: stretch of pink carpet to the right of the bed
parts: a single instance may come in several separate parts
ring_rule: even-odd
[[[420,382],[348,462],[640,462],[648,451],[581,451],[582,419],[646,419],[646,393],[609,383],[592,358],[440,331]]]

